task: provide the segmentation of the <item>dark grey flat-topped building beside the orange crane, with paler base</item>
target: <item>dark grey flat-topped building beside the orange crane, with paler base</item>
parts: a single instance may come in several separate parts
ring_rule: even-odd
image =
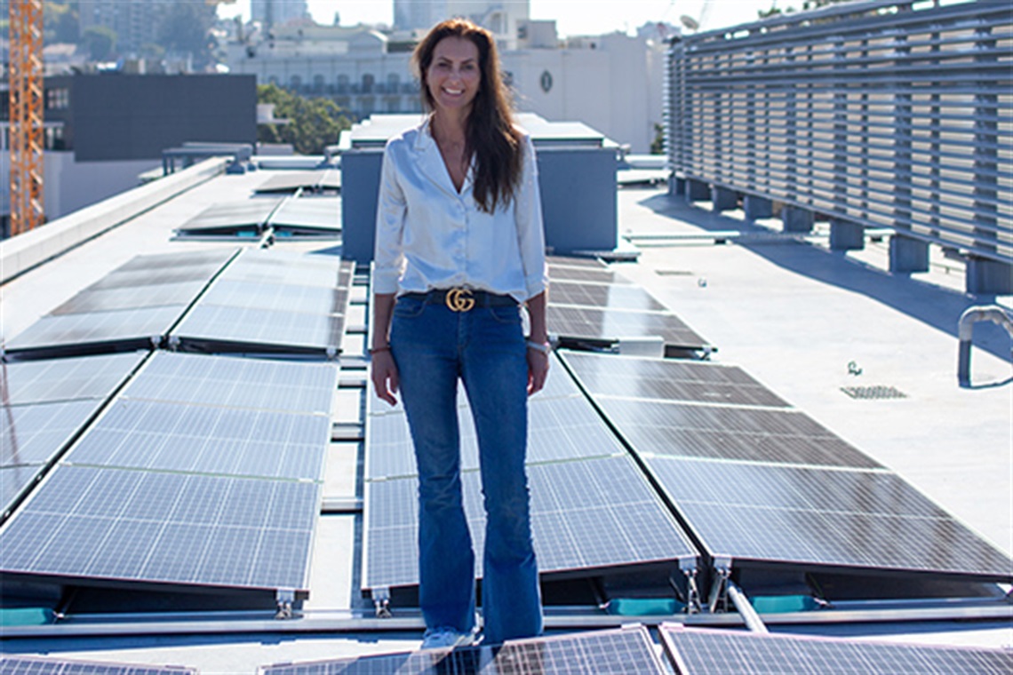
[[[6,157],[8,89],[0,85],[0,153]],[[256,142],[250,76],[77,75],[45,81],[46,216],[53,220],[139,184],[162,150],[187,141]],[[9,183],[0,163],[0,185]],[[10,194],[0,190],[0,218]]]

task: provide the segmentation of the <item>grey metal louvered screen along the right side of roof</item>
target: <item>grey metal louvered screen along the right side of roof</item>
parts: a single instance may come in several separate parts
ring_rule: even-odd
[[[851,2],[686,35],[668,66],[677,176],[1013,262],[1008,3]]]

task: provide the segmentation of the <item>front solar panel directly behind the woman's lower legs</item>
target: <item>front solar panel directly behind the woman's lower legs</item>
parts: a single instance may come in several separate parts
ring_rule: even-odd
[[[461,476],[476,551],[485,517],[478,472]],[[628,456],[529,465],[531,519],[542,574],[600,571],[697,557],[671,513]],[[417,482],[366,484],[363,588],[418,583]],[[635,526],[633,525],[635,523]]]

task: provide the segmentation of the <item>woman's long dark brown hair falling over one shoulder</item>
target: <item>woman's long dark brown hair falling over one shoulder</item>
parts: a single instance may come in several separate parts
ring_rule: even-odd
[[[492,33],[466,19],[438,23],[415,47],[411,62],[425,107],[436,109],[425,72],[433,63],[433,52],[445,37],[462,37],[478,48],[481,82],[466,123],[465,152],[475,158],[475,201],[491,214],[496,206],[510,203],[521,180],[521,133],[514,126],[511,95],[499,75],[499,55]]]

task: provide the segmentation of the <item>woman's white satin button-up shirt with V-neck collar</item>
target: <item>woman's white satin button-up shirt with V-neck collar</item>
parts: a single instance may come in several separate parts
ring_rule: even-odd
[[[514,199],[492,214],[472,193],[474,164],[458,192],[428,119],[387,142],[380,179],[373,292],[467,286],[525,302],[545,290],[545,231],[535,149],[525,135]]]

